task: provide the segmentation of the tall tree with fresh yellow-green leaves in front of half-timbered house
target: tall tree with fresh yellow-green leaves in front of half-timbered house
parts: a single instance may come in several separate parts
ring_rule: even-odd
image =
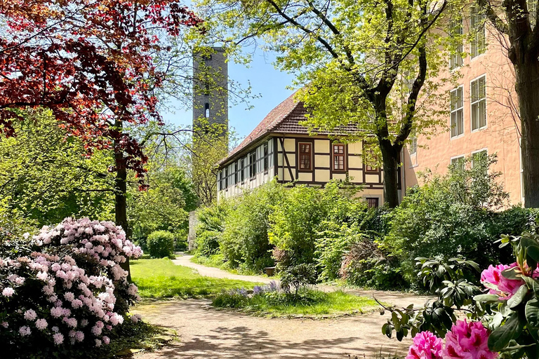
[[[298,98],[311,109],[312,130],[355,123],[375,139],[384,170],[385,203],[398,205],[399,153],[408,136],[439,123],[418,116],[418,99],[442,61],[439,32],[447,1],[201,0],[208,28],[236,45],[262,39],[277,65],[298,74]],[[227,31],[223,32],[222,27]],[[231,51],[236,49],[231,46]],[[434,96],[428,96],[434,100]]]

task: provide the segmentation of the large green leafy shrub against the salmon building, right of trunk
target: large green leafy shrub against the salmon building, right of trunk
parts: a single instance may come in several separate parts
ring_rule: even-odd
[[[495,156],[473,161],[473,166],[472,158],[452,166],[448,175],[426,175],[425,184],[411,189],[393,211],[382,248],[401,259],[408,283],[415,280],[415,257],[462,256],[486,266],[510,255],[491,244],[510,229],[495,225],[498,218],[510,220],[493,210],[507,200],[500,173],[488,170]]]

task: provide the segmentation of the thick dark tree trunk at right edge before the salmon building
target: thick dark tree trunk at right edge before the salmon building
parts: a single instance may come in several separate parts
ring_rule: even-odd
[[[536,54],[514,59],[515,89],[519,96],[524,205],[539,207],[539,61]]]

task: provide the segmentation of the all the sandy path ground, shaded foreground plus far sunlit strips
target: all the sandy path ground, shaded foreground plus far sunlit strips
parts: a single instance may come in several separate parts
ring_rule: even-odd
[[[239,276],[220,269],[189,262],[178,257],[175,264],[197,269],[201,275],[251,282],[269,282],[271,278]],[[321,286],[321,290],[334,290]],[[399,306],[422,304],[426,297],[412,294],[349,291],[375,296],[382,302]],[[234,311],[216,311],[207,299],[172,300],[135,306],[149,323],[162,325],[178,333],[179,342],[161,351],[139,355],[138,359],[156,358],[385,358],[395,353],[406,355],[409,339],[399,342],[382,335],[385,318],[378,312],[361,316],[312,320],[301,318],[260,318]]]

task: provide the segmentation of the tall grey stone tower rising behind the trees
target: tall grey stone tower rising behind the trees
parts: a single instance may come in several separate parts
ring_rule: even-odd
[[[228,132],[228,64],[225,49],[214,47],[193,54],[193,129],[206,126]]]

